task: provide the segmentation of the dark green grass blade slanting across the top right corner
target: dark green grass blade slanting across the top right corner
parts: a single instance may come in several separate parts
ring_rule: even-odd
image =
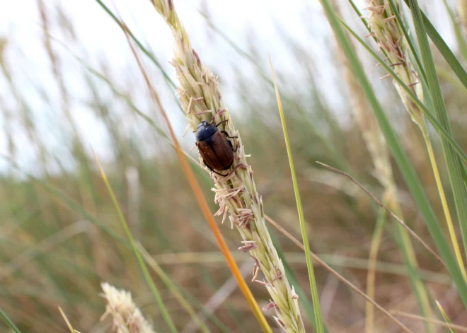
[[[409,6],[410,11],[412,11],[413,1],[411,0],[404,0],[404,1],[405,1],[405,4]],[[461,65],[459,60],[456,58],[456,56],[451,51],[451,49],[449,49],[449,46],[447,46],[446,42],[444,42],[443,38],[441,37],[441,35],[439,35],[436,28],[434,28],[432,23],[428,20],[427,16],[425,16],[425,13],[420,11],[420,8],[419,8],[419,12],[421,15],[422,23],[425,26],[425,31],[429,35],[429,38],[432,40],[433,44],[437,47],[439,52],[442,54],[447,64],[449,64],[451,69],[454,71],[454,74],[456,74],[456,76],[462,82],[463,86],[467,88],[466,70],[463,69],[463,66]]]

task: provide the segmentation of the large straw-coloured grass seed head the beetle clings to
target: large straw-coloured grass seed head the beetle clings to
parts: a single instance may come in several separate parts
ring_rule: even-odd
[[[178,95],[192,131],[202,120],[222,124],[221,129],[230,136],[238,136],[233,144],[238,147],[233,169],[226,177],[211,173],[216,193],[214,201],[219,203],[216,215],[229,214],[231,226],[236,226],[243,238],[239,250],[249,252],[255,262],[253,281],[266,286],[272,298],[265,310],[274,308],[277,323],[286,332],[304,332],[299,303],[294,288],[290,286],[282,261],[277,255],[265,225],[263,200],[253,180],[253,170],[246,161],[241,138],[233,127],[226,106],[221,100],[217,77],[202,65],[200,57],[192,49],[188,34],[180,22],[171,0],[152,0],[156,11],[165,18],[174,37],[173,66],[178,76]],[[263,271],[265,281],[258,278]]]

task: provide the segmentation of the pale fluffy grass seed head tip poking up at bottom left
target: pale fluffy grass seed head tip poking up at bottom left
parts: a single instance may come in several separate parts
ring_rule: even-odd
[[[103,296],[107,300],[105,313],[101,320],[111,315],[113,318],[113,332],[117,333],[154,333],[149,322],[134,304],[132,294],[123,289],[119,290],[107,282],[101,284]]]

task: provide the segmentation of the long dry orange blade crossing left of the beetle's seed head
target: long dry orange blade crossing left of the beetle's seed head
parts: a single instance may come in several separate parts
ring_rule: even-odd
[[[198,204],[200,205],[202,214],[204,215],[204,218],[206,218],[209,224],[209,228],[211,228],[212,230],[212,233],[214,233],[214,237],[216,238],[217,243],[219,244],[219,247],[221,248],[222,253],[226,257],[226,262],[229,265],[229,268],[231,269],[233,276],[235,276],[238,282],[238,286],[240,286],[240,289],[243,295],[245,296],[246,300],[248,301],[248,304],[250,305],[251,310],[253,310],[255,317],[258,319],[260,326],[263,328],[264,332],[272,332],[270,326],[267,324],[267,321],[263,315],[263,312],[261,312],[260,307],[258,306],[258,303],[256,303],[256,300],[253,297],[253,294],[251,293],[250,288],[248,288],[248,285],[246,284],[245,279],[243,279],[241,271],[240,269],[238,269],[238,266],[231,255],[229,247],[227,247],[227,244],[221,235],[221,232],[217,226],[217,223],[216,221],[214,221],[214,217],[212,216],[211,211],[209,211],[209,206],[207,205],[207,201],[206,199],[204,199],[204,195],[202,194],[200,185],[198,185],[195,175],[190,169],[190,165],[188,165],[188,161],[186,160],[183,150],[180,147],[180,144],[178,143],[177,137],[175,136],[175,132],[173,132],[173,128],[171,126],[170,121],[168,120],[166,111],[163,108],[161,100],[158,97],[158,93],[156,93],[156,90],[152,86],[151,81],[149,80],[149,77],[146,74],[146,71],[144,70],[144,66],[142,65],[142,62],[139,59],[139,56],[132,45],[132,42],[127,33],[126,25],[122,23],[121,28],[123,32],[125,33],[125,37],[127,38],[128,45],[130,49],[132,50],[134,59],[137,61],[140,71],[142,72],[144,81],[146,81],[146,85],[151,93],[151,96],[152,98],[154,98],[154,101],[156,102],[156,105],[158,106],[158,109],[161,112],[163,122],[166,124],[166,128],[168,129],[168,132],[171,136],[173,144],[175,145],[175,153],[177,153],[178,159],[180,160],[180,163],[182,164],[183,171],[185,172],[185,175],[188,178],[188,182],[190,182],[192,191],[195,193],[195,197],[198,201]]]

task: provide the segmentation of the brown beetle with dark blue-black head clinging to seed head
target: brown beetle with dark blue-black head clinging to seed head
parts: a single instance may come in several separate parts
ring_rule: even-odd
[[[219,124],[214,126],[203,120],[198,124],[196,132],[196,146],[198,147],[198,151],[200,151],[204,165],[213,173],[224,177],[226,175],[222,175],[216,170],[223,171],[229,169],[233,164],[233,153],[237,150],[233,150],[231,141],[226,139],[236,138],[237,136],[229,136],[227,132],[219,131],[217,128],[226,121],[219,122]]]

